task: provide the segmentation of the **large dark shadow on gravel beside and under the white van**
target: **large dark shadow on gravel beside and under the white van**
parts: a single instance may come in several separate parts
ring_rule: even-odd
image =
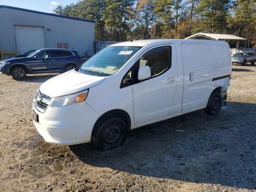
[[[96,167],[256,189],[255,114],[256,104],[228,102],[216,116],[200,110],[132,130],[123,146],[114,150],[102,152],[89,144],[70,150]]]

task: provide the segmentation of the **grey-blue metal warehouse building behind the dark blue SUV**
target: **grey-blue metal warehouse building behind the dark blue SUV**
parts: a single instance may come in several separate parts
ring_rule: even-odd
[[[94,21],[0,5],[2,53],[40,48],[66,48],[92,56]]]

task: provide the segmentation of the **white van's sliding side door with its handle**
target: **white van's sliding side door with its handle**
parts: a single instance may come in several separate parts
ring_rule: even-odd
[[[212,61],[207,43],[182,44],[184,92],[182,113],[204,108],[212,93]]]

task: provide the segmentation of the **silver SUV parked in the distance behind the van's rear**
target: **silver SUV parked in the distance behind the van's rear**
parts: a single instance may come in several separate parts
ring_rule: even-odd
[[[232,64],[239,63],[245,65],[246,63],[255,64],[256,55],[255,53],[236,53],[232,56]]]

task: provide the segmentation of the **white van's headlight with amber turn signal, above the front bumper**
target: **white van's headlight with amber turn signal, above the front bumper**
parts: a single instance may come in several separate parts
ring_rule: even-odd
[[[52,102],[50,103],[50,106],[51,107],[60,107],[60,106],[66,106],[66,105],[79,103],[86,99],[87,94],[88,94],[88,90],[85,90],[85,91],[70,94],[70,95],[54,97],[54,98],[52,98]]]

